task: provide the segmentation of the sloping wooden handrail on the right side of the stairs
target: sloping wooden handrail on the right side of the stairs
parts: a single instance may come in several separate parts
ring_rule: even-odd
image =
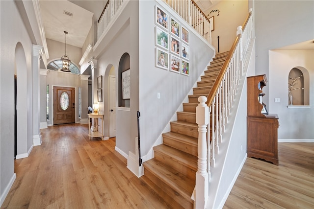
[[[252,14],[252,12],[249,13],[249,15],[248,15],[248,17],[246,18],[246,20],[245,20],[245,22],[244,22],[242,28],[244,28],[244,27],[246,26],[246,24],[248,23],[249,18],[251,17],[251,14]],[[237,46],[239,40],[240,40],[240,34],[238,34],[238,35],[236,36],[235,42],[234,42],[234,44],[231,46],[231,49],[230,49],[230,51],[229,51],[229,53],[228,53],[228,55],[227,55],[226,61],[224,62],[224,64],[223,64],[223,66],[222,66],[222,68],[221,68],[219,74],[217,75],[217,78],[216,78],[214,84],[212,85],[211,90],[209,91],[209,94],[208,94],[208,96],[207,96],[207,102],[206,102],[207,106],[210,106],[210,105],[211,105],[212,100],[213,100],[214,97],[215,97],[215,93],[218,91],[218,88],[219,88],[219,86],[220,86],[220,83],[221,83],[221,81],[222,81],[222,79],[223,79],[223,77],[224,77],[224,75],[225,75],[225,73],[226,73],[226,71],[227,71],[227,68],[228,68],[228,65],[229,65],[229,63],[230,63],[231,57],[232,57],[233,53],[235,52],[235,48],[236,48],[236,46]]]

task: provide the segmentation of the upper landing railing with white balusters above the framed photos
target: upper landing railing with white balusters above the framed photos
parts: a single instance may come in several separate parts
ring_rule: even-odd
[[[194,0],[163,0],[211,44],[210,21]]]

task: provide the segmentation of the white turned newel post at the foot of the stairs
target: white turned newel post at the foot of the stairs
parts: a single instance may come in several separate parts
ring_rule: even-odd
[[[196,107],[196,123],[198,124],[198,160],[196,172],[196,198],[195,207],[197,209],[205,208],[208,199],[209,174],[207,172],[207,125],[209,123],[209,107],[206,105],[207,98],[200,96],[200,102]]]

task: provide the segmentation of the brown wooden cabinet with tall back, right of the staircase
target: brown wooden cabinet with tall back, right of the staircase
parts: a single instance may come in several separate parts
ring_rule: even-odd
[[[266,75],[247,77],[247,155],[278,165],[278,116],[262,114]]]

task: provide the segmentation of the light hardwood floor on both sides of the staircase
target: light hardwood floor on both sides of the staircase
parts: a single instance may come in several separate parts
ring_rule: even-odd
[[[137,178],[115,139],[88,139],[88,126],[41,130],[43,143],[15,161],[1,209],[166,209],[150,180]],[[314,144],[279,143],[279,166],[247,159],[224,208],[314,208]]]

